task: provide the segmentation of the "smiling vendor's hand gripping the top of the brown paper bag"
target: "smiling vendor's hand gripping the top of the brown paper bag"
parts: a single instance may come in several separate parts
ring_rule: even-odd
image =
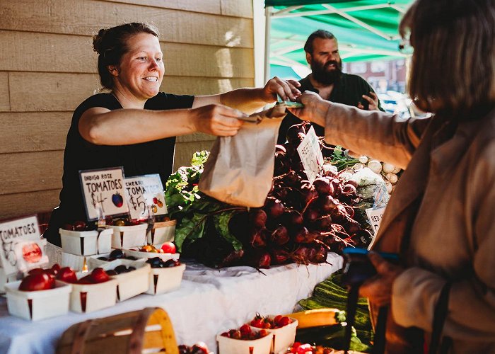
[[[247,115],[225,105],[204,105],[194,108],[194,130],[219,137],[231,137],[236,135],[243,125],[242,120]]]

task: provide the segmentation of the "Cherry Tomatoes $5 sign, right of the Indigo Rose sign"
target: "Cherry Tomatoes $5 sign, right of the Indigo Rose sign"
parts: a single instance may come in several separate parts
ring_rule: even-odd
[[[158,173],[124,179],[125,196],[132,219],[146,219],[148,214],[167,214],[163,184]]]

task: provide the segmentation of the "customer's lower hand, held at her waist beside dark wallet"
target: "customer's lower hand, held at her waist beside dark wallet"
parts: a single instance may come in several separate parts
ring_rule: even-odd
[[[403,269],[398,265],[385,261],[378,253],[370,252],[368,257],[378,274],[366,280],[359,287],[359,295],[368,297],[370,302],[378,307],[386,306],[390,304],[393,282],[397,275],[402,273]]]

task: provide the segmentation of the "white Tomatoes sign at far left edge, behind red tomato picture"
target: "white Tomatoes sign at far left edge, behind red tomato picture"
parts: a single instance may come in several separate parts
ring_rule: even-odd
[[[7,275],[17,273],[16,241],[40,239],[36,215],[0,223],[0,263]]]

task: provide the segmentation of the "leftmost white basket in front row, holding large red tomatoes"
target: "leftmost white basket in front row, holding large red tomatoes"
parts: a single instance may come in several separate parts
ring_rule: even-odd
[[[49,290],[18,290],[22,280],[8,282],[5,286],[8,313],[31,321],[62,316],[69,312],[69,298],[72,286],[66,282],[55,281],[55,287]]]

